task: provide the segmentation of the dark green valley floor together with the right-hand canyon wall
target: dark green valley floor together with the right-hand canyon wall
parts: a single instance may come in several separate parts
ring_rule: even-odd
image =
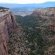
[[[37,9],[31,15],[17,16],[16,21],[23,28],[28,55],[54,55],[55,50],[55,8]]]

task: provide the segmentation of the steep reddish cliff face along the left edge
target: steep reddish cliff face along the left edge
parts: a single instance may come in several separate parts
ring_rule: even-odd
[[[0,11],[0,55],[8,55],[9,34],[15,28],[15,17],[10,10]]]

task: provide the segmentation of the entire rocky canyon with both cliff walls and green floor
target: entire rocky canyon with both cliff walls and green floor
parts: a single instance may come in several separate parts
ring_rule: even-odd
[[[0,55],[54,55],[54,49],[54,7],[26,16],[0,9]]]

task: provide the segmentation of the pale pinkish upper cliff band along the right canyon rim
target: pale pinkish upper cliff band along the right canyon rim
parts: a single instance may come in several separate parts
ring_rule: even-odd
[[[49,7],[49,8],[40,8],[40,9],[37,9],[35,11],[33,11],[33,14],[39,14],[39,15],[48,15],[48,16],[51,16],[55,14],[55,8],[53,7]]]

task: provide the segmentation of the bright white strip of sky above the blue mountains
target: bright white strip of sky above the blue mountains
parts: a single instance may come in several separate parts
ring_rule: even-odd
[[[15,3],[15,4],[30,4],[30,3],[44,3],[55,2],[55,0],[0,0],[0,3]]]

